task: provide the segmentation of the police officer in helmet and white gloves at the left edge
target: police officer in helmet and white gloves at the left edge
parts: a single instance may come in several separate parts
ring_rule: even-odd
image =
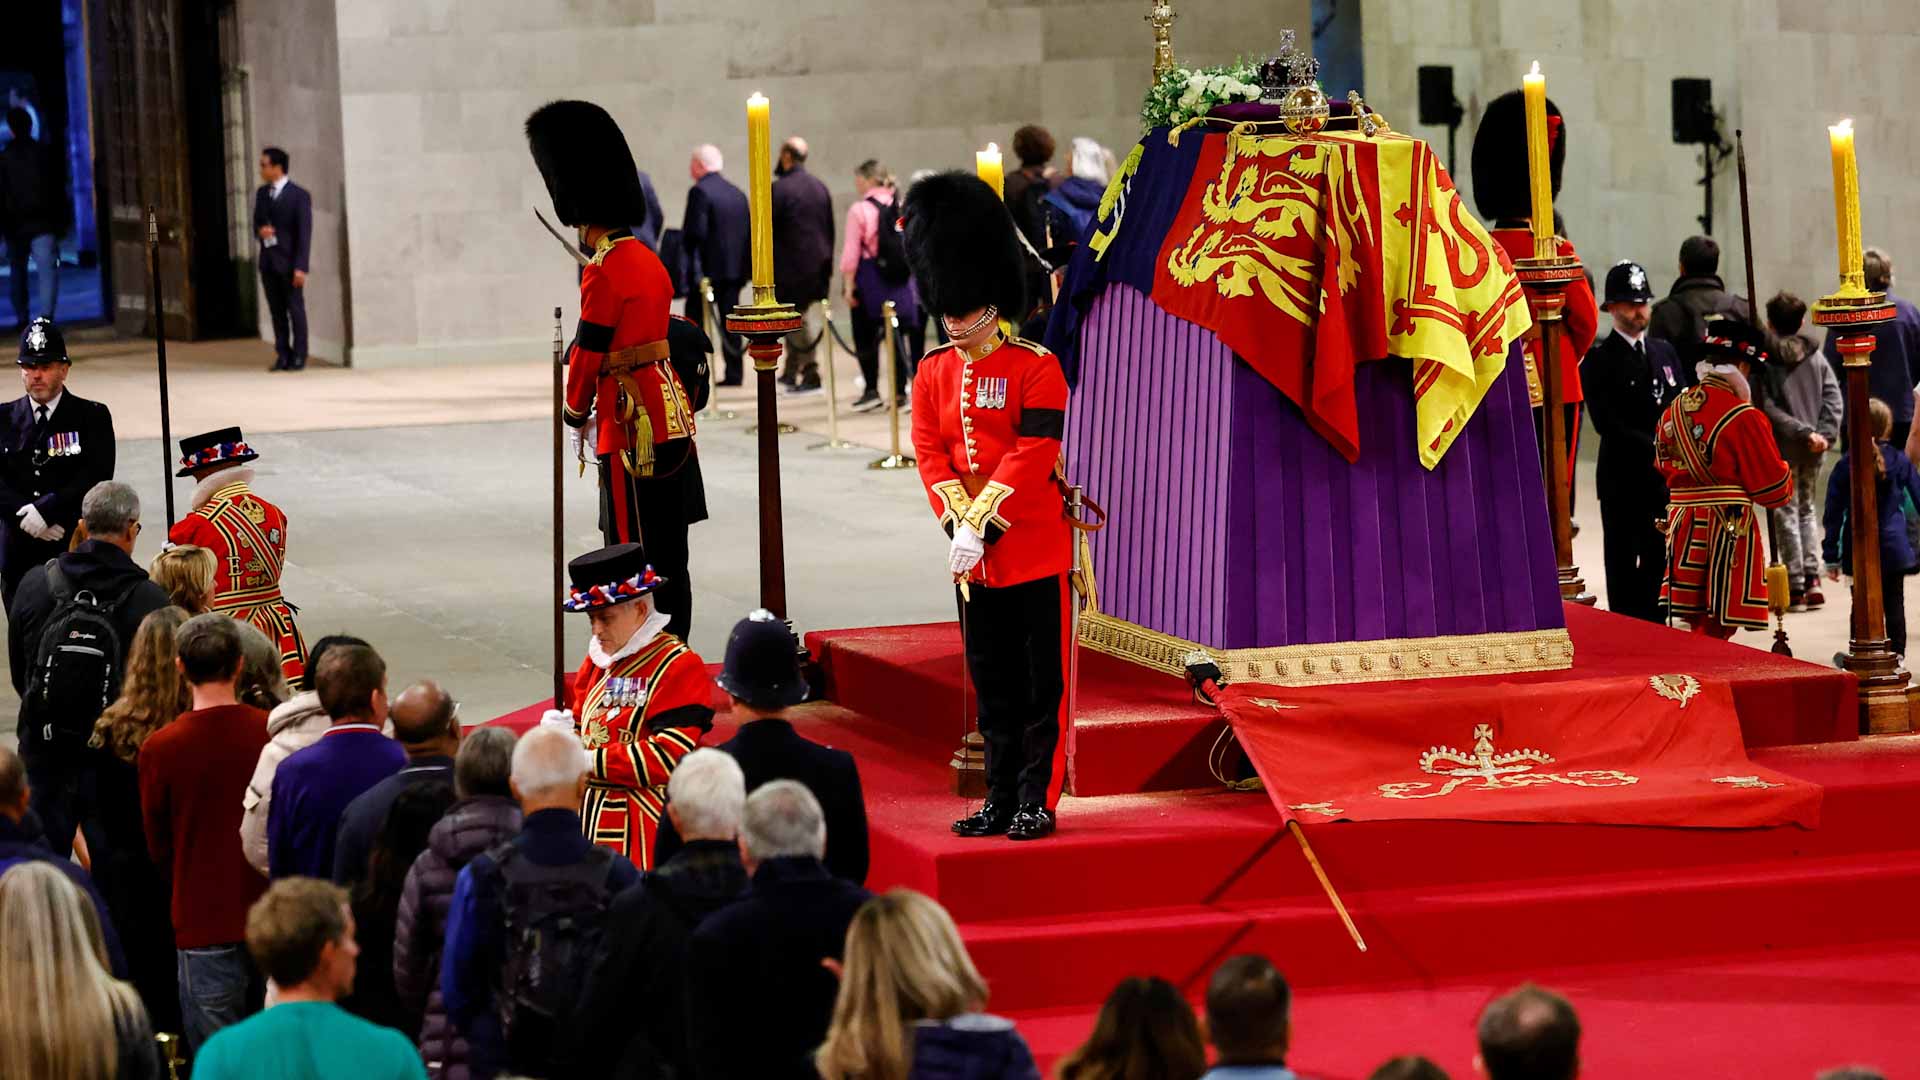
[[[113,413],[67,392],[67,340],[52,319],[27,323],[19,336],[19,377],[27,394],[0,417],[0,594],[29,569],[60,555],[81,523],[81,498],[113,479]]]

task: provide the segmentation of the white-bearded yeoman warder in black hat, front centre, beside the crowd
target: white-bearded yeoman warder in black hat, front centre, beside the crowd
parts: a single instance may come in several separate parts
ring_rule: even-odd
[[[588,659],[566,711],[540,723],[572,730],[588,749],[588,840],[653,867],[653,836],[666,809],[666,778],[712,726],[712,678],[653,605],[662,578],[639,544],[614,544],[566,565],[563,607],[593,625]]]

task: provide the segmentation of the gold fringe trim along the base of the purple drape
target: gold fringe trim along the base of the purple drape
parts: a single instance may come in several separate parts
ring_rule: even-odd
[[[1125,619],[1087,611],[1081,615],[1079,640],[1089,650],[1167,675],[1185,675],[1187,653],[1206,650],[1227,678],[1277,686],[1394,682],[1572,667],[1572,638],[1565,628],[1213,650]]]

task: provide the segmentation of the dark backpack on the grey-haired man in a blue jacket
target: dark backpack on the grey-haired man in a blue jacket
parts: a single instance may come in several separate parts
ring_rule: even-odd
[[[507,955],[501,965],[501,1042],[511,1072],[545,1076],[561,1026],[580,1003],[607,936],[612,851],[591,846],[580,863],[541,867],[513,842],[493,849],[501,876]]]

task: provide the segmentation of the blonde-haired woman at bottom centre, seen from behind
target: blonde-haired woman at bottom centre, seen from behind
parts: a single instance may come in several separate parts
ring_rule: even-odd
[[[947,909],[891,890],[847,926],[833,1024],[814,1065],[826,1080],[1039,1080],[1012,1020],[985,1005],[987,984]]]

